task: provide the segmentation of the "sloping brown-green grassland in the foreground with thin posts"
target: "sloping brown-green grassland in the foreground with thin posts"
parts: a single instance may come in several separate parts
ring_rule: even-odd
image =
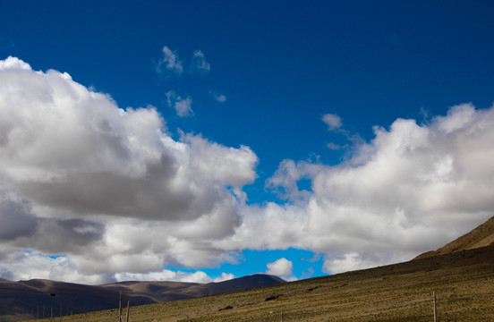
[[[130,321],[280,321],[282,312],[284,321],[432,321],[434,291],[439,321],[494,321],[494,246],[243,292],[132,307]],[[53,320],[117,321],[117,311]]]

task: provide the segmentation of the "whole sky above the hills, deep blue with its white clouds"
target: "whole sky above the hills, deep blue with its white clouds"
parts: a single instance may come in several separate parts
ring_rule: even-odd
[[[492,9],[0,1],[0,276],[295,279],[438,248],[494,210]],[[50,113],[70,122],[55,131]],[[115,140],[88,125],[98,117]],[[42,138],[22,145],[18,128]],[[476,206],[447,203],[460,195]]]

